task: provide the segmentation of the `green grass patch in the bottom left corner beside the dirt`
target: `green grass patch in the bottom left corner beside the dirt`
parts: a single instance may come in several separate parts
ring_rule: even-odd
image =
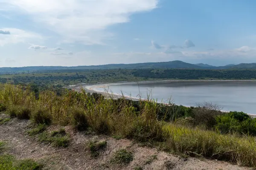
[[[17,160],[11,155],[0,155],[0,170],[40,170],[42,164],[32,159]]]

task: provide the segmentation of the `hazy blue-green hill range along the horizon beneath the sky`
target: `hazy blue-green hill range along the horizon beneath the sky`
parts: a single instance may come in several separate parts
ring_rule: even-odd
[[[29,66],[29,67],[3,67],[0,73],[20,72],[20,71],[43,71],[43,70],[79,70],[79,69],[133,69],[133,68],[190,68],[190,69],[256,69],[256,63],[241,63],[238,65],[213,66],[203,63],[190,64],[182,61],[170,62],[145,62],[134,64],[107,64],[107,65],[89,65],[89,66]]]

